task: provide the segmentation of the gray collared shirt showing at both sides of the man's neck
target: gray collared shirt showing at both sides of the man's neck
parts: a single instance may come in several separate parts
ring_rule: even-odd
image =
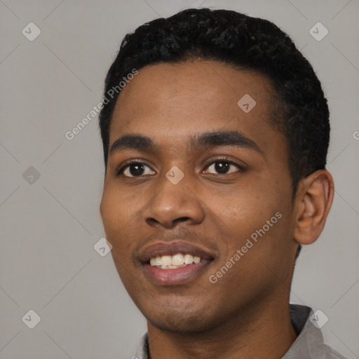
[[[309,306],[290,304],[290,319],[298,337],[281,359],[346,359],[324,344],[323,334],[309,318],[313,311]],[[133,359],[149,359],[148,334],[144,334]]]

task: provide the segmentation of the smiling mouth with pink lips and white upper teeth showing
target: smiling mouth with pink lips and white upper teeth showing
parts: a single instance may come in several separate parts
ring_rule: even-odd
[[[144,275],[156,285],[178,285],[198,278],[215,259],[208,250],[175,241],[155,243],[140,256]]]

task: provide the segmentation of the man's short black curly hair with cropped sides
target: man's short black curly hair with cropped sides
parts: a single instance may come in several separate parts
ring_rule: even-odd
[[[270,121],[287,139],[293,196],[300,179],[325,169],[329,109],[309,61],[290,37],[269,20],[210,8],[189,8],[169,18],[152,20],[124,37],[106,76],[107,103],[100,112],[105,168],[109,126],[122,89],[118,83],[123,77],[146,65],[196,59],[224,62],[235,69],[252,69],[269,78],[275,104]],[[116,94],[108,99],[113,88],[117,88]]]

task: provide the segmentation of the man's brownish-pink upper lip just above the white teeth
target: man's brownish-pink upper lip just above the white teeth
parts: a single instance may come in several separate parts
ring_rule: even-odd
[[[201,257],[201,259],[214,259],[215,255],[209,250],[201,248],[198,245],[187,243],[184,241],[172,241],[169,243],[156,242],[147,245],[140,251],[139,259],[141,262],[149,262],[149,259],[154,257],[161,257],[163,255],[177,255],[182,253],[184,255],[193,255],[194,257]]]

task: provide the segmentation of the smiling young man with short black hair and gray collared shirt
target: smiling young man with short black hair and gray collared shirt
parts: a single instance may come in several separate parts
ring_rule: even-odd
[[[286,34],[206,8],[142,25],[100,129],[104,229],[147,319],[136,358],[344,358],[289,304],[334,184],[327,100]]]

